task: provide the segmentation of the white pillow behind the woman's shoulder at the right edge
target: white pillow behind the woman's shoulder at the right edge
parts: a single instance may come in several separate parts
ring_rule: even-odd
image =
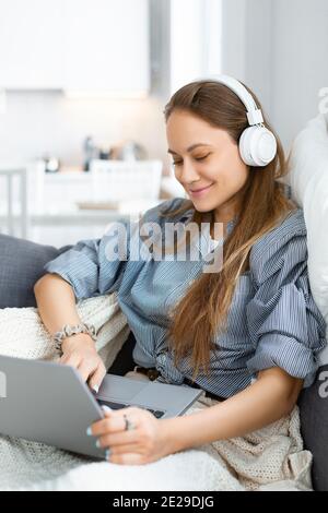
[[[283,180],[304,211],[307,228],[308,275],[317,307],[327,322],[328,339],[328,117],[319,115],[296,136]],[[328,348],[320,365],[328,363]]]

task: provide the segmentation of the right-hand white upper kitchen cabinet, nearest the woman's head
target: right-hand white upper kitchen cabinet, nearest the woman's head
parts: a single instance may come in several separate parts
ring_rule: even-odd
[[[69,0],[65,7],[67,90],[149,90],[148,0]]]

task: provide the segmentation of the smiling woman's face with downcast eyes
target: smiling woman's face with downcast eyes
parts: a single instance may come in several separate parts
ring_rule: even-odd
[[[218,222],[231,220],[238,211],[238,192],[249,175],[237,144],[224,130],[179,109],[169,116],[166,134],[175,177],[195,208],[214,211]]]

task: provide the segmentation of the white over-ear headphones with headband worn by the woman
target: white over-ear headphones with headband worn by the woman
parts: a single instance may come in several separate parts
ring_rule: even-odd
[[[254,97],[246,87],[236,79],[227,75],[213,75],[199,80],[226,85],[238,96],[247,109],[249,123],[249,128],[244,130],[239,139],[241,157],[248,166],[265,167],[270,164],[277,154],[277,139],[263,126],[262,112],[257,108]]]

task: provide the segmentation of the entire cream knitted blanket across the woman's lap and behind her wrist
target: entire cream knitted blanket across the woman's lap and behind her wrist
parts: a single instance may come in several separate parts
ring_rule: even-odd
[[[107,367],[129,329],[116,296],[79,303],[99,331]],[[37,310],[0,310],[0,354],[55,359]],[[202,397],[186,415],[216,402]],[[312,454],[303,450],[297,407],[289,417],[243,438],[213,442],[148,465],[94,462],[42,443],[0,436],[0,490],[311,490]]]

